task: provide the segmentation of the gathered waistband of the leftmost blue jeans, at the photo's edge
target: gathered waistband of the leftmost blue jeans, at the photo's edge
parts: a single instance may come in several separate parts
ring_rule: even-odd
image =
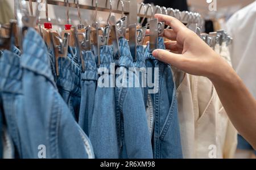
[[[20,58],[9,50],[0,58],[0,91],[22,94]]]

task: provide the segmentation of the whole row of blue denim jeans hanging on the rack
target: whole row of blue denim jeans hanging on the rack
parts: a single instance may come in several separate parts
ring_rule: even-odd
[[[159,47],[164,49],[162,38]],[[17,48],[1,51],[0,131],[7,127],[10,155],[182,158],[170,65],[141,45],[134,61],[126,39],[119,40],[119,50],[114,58],[113,46],[101,46],[98,67],[98,56],[82,52],[83,72],[76,48],[69,47],[55,68],[53,50],[29,28],[23,54]],[[145,82],[147,70],[155,70],[155,87]]]

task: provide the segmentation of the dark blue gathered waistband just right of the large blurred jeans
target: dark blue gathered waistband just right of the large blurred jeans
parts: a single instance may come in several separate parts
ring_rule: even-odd
[[[57,77],[57,86],[73,95],[81,95],[81,70],[68,57],[59,57],[59,76]]]

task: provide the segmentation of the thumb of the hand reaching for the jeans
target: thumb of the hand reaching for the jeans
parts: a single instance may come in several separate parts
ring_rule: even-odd
[[[180,69],[184,60],[182,54],[175,54],[163,49],[156,49],[152,55],[162,62],[169,63],[170,65]]]

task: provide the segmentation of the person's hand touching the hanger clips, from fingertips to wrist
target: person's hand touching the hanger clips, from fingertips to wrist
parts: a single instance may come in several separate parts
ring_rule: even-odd
[[[227,70],[233,71],[222,57],[179,20],[162,14],[156,14],[155,18],[172,28],[164,30],[164,37],[170,40],[166,42],[166,48],[170,52],[156,49],[153,52],[155,58],[186,73],[207,76],[210,79],[222,75]]]

